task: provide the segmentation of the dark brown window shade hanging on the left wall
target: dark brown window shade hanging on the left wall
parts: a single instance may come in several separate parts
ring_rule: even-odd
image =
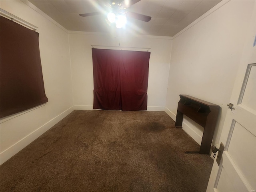
[[[1,16],[1,113],[6,117],[48,102],[39,52],[39,34]]]

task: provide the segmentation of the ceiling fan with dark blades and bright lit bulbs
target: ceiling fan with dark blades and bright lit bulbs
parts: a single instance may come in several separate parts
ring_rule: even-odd
[[[106,1],[107,3],[103,4],[104,9],[106,10],[105,13],[99,11],[99,12],[84,13],[79,15],[82,17],[87,17],[87,16],[106,14],[108,18],[107,19],[108,24],[110,25],[111,23],[115,22],[116,28],[121,28],[122,26],[124,26],[124,24],[126,23],[127,17],[149,22],[151,20],[150,16],[146,16],[146,15],[135,13],[135,12],[125,11],[126,8],[129,8],[130,6],[136,4],[139,1],[140,0]]]

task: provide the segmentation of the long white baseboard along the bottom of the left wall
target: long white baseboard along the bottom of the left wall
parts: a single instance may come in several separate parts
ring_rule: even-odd
[[[44,134],[47,130],[52,128],[56,123],[58,123],[60,120],[62,120],[64,117],[66,117],[68,114],[70,114],[74,110],[74,106],[70,107],[66,111],[62,112],[55,118],[48,121],[43,126],[39,127],[38,129],[34,130],[32,133],[28,134],[26,137],[22,138],[6,150],[0,153],[0,164],[3,164],[8,159],[10,159],[12,156],[17,154],[20,150],[22,150],[24,147],[28,146],[32,141],[36,140],[39,136]]]

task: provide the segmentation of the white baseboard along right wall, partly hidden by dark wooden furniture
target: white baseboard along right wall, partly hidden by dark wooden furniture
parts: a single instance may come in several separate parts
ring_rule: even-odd
[[[176,115],[170,111],[168,108],[164,109],[164,112],[166,112],[174,121],[176,121]],[[193,126],[188,122],[182,122],[182,129],[190,136],[192,137],[198,144],[201,144],[202,137],[198,135],[192,128]]]

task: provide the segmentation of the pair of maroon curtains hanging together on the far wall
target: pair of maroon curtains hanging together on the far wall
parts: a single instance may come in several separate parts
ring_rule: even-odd
[[[150,52],[92,49],[94,109],[147,110]]]

